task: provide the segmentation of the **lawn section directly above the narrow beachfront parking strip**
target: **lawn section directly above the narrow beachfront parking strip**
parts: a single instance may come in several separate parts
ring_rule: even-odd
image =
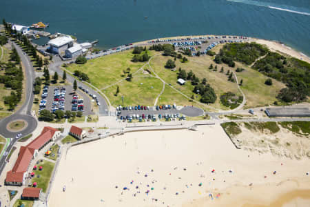
[[[117,86],[119,87],[119,93],[115,96]],[[124,97],[125,106],[138,104],[153,106],[156,97],[163,88],[163,83],[154,77],[134,77],[132,81],[122,81],[117,86],[103,90],[112,106],[121,105],[122,96]]]

